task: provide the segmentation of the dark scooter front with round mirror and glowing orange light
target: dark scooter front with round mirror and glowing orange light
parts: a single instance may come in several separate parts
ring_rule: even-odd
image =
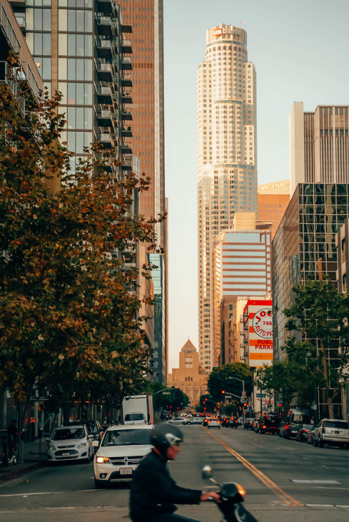
[[[223,513],[227,522],[258,522],[251,513],[242,505],[246,491],[242,486],[235,482],[227,482],[226,484],[218,484],[216,479],[212,477],[212,470],[209,465],[202,468],[202,478],[209,479],[220,489],[221,502],[217,503],[219,509]]]

